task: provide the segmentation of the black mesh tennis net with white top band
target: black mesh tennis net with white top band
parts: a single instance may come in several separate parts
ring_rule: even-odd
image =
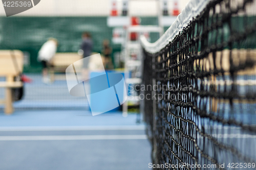
[[[156,169],[254,169],[256,2],[190,1],[155,43],[141,37]],[[154,89],[154,88],[151,88]]]

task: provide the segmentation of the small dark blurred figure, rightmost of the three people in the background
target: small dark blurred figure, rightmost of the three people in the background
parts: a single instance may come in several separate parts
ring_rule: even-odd
[[[103,41],[103,50],[102,54],[104,55],[104,67],[105,69],[113,69],[113,63],[111,59],[111,54],[112,54],[112,48],[110,47],[110,41],[105,39]]]

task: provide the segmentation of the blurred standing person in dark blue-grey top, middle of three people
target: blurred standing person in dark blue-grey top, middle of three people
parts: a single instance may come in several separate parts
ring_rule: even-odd
[[[92,54],[93,41],[89,32],[84,32],[82,34],[82,44],[81,50],[83,51],[83,58],[89,57]],[[88,70],[89,61],[83,60],[83,70],[82,74],[84,79],[89,79],[89,70]]]

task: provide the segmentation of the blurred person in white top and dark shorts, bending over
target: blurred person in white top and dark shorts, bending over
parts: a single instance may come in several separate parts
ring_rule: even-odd
[[[39,52],[37,60],[42,64],[42,82],[50,83],[50,78],[48,77],[48,65],[51,65],[51,60],[56,54],[58,46],[58,40],[55,38],[49,38],[47,42],[45,42]]]

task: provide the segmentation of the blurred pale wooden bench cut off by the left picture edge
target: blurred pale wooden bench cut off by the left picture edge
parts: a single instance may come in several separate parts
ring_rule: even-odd
[[[14,58],[15,57],[15,58]],[[15,61],[14,61],[15,60]],[[22,87],[22,82],[15,82],[14,77],[23,71],[23,52],[14,50],[0,51],[0,77],[5,77],[5,81],[0,82],[0,87],[6,88],[5,99],[0,103],[5,105],[5,113],[13,113],[12,88]]]

